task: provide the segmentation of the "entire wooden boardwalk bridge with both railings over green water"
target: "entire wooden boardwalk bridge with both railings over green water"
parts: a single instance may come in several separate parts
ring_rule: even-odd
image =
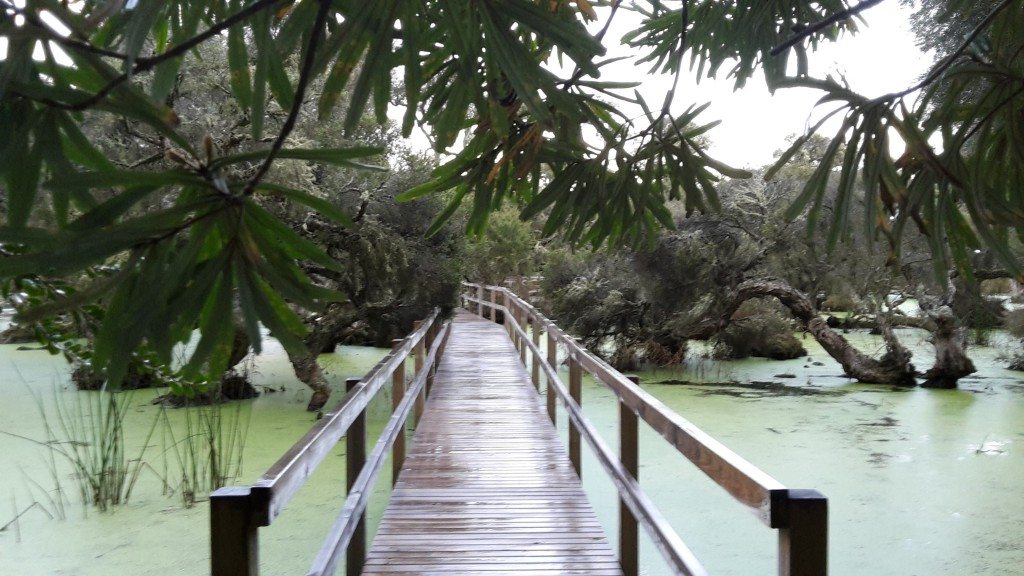
[[[348,381],[338,406],[256,484],[211,496],[215,576],[259,573],[259,528],[282,513],[342,439],[347,498],[308,575],[333,575],[344,565],[348,575],[635,576],[641,529],[674,573],[707,574],[640,489],[641,421],[778,530],[780,576],[826,574],[827,504],[821,494],[786,489],[582,348],[510,290],[465,288],[463,310],[451,320],[435,312],[396,340],[365,378]],[[567,385],[559,361],[568,365]],[[618,398],[617,453],[583,414],[584,371]],[[387,383],[392,415],[368,454],[366,409]],[[569,421],[565,447],[553,425],[559,405]],[[407,453],[410,421],[415,435]],[[615,547],[581,486],[583,442],[618,491]],[[394,487],[368,546],[369,495],[389,453]]]

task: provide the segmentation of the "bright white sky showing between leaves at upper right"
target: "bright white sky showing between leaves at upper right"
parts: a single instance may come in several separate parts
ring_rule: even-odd
[[[842,74],[853,90],[866,96],[911,86],[932,59],[914,45],[909,13],[895,0],[866,10],[863,17],[867,26],[861,26],[856,35],[846,35],[836,43],[822,43],[817,52],[809,54],[811,75],[823,78],[826,74]],[[609,51],[614,54],[623,48],[609,45]],[[701,124],[722,121],[710,132],[712,157],[735,167],[769,164],[774,153],[785,148],[787,135],[805,131],[821,92],[788,88],[772,95],[762,76],[752,78],[744,88],[734,92],[733,81],[724,78],[725,69],[718,79],[705,79],[700,84],[695,83],[692,75],[684,74],[676,90],[673,112],[681,114],[691,104],[712,102],[697,120]],[[623,76],[613,79],[642,80],[644,85],[639,90],[652,108],[659,108],[671,82],[643,74],[646,70],[624,67],[617,71]],[[835,119],[833,131],[840,121],[839,117]],[[830,135],[828,126],[821,133]]]

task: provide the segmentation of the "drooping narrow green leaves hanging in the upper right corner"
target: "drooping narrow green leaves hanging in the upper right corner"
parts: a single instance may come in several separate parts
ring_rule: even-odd
[[[841,175],[828,218],[829,246],[850,223],[859,175],[862,236],[886,238],[891,261],[901,259],[901,239],[906,229],[915,228],[930,241],[939,277],[954,266],[970,278],[970,252],[982,246],[1019,275],[1021,259],[1007,243],[1009,235],[1024,231],[1019,129],[1024,68],[1018,57],[1024,48],[1024,7],[1011,1],[946,0],[925,2],[921,10],[921,36],[929,38],[926,45],[940,48],[942,57],[914,86],[865,98],[833,78],[782,82],[822,91],[821,102],[840,102],[845,114],[821,169],[790,215],[806,209],[809,225],[819,221],[828,174],[836,168]],[[899,158],[889,154],[892,133],[906,143]],[[795,142],[791,152],[802,143]],[[787,159],[783,155],[778,165]]]

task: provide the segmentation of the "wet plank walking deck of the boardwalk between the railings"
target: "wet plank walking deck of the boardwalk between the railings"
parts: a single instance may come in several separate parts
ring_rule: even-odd
[[[505,330],[466,313],[364,574],[622,574]]]

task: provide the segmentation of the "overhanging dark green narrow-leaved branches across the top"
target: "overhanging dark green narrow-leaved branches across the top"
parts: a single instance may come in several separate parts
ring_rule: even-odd
[[[345,295],[309,282],[299,262],[341,264],[259,200],[283,199],[340,224],[351,215],[271,167],[386,169],[382,149],[352,136],[365,113],[384,122],[395,106],[402,132],[422,128],[445,156],[428,182],[402,195],[445,198],[432,231],[468,203],[467,227],[482,233],[492,211],[513,204],[524,218],[543,215],[547,235],[646,242],[673,225],[668,201],[717,209],[716,184],[750,174],[705,151],[714,122],[703,106],[673,115],[670,105],[683,97],[674,88],[650,105],[635,83],[602,78],[622,57],[677,77],[726,75],[737,87],[760,70],[772,89],[820,90],[835,108],[826,117],[842,123],[791,216],[806,211],[810,227],[827,224],[828,245],[851,229],[884,238],[894,261],[904,229],[915,227],[939,270],[970,274],[968,253],[984,245],[1019,274],[1008,239],[1024,224],[1024,6],[993,1],[979,12],[975,2],[926,2],[921,17],[944,48],[906,90],[866,98],[842,79],[810,77],[808,52],[853,31],[880,1],[0,0],[0,277],[120,261],[116,274],[42,311],[105,298],[95,361],[112,379],[140,342],[169,362],[197,328],[188,365],[217,371],[236,307],[254,342],[263,324],[301,353],[294,307]],[[625,55],[611,55],[608,27],[627,10],[640,24],[613,52]],[[249,128],[244,152],[203,134],[173,98],[188,74],[183,63],[204,44],[226,52],[222,74]],[[314,115],[340,119],[338,133],[316,146],[293,139],[296,123]],[[158,142],[161,159],[113,163],[82,128],[102,119],[130,122]],[[894,156],[897,135],[906,153]],[[855,205],[864,216],[854,229]]]

